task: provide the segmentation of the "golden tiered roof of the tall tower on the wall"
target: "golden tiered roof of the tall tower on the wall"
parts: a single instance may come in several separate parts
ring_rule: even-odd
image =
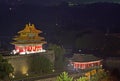
[[[44,37],[39,36],[42,31],[37,30],[34,24],[26,24],[25,28],[13,38],[12,44],[45,44]]]

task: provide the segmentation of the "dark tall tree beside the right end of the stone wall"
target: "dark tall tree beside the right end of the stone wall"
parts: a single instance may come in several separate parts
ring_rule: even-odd
[[[54,50],[55,53],[55,68],[56,69],[62,69],[64,66],[64,54],[65,49],[61,46],[58,46],[56,44],[49,44],[48,46],[49,50]]]

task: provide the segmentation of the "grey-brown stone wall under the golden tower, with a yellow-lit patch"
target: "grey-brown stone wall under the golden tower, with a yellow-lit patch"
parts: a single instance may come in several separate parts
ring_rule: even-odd
[[[45,53],[29,54],[29,55],[15,55],[15,56],[5,56],[5,59],[8,59],[8,62],[14,67],[15,74],[27,74],[29,71],[29,59],[33,56],[45,56],[52,63],[54,63],[55,55],[53,51],[47,51]],[[35,59],[35,58],[34,58]]]

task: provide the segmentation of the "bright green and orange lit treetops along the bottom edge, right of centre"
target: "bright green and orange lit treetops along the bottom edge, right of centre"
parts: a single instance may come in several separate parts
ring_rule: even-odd
[[[63,72],[57,77],[56,81],[118,81],[118,79],[114,76],[110,76],[103,69],[99,69],[94,75],[82,76],[74,80],[73,77],[68,76],[67,72]]]

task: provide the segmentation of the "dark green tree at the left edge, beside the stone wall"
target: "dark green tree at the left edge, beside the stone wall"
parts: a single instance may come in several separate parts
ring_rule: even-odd
[[[10,63],[8,63],[7,59],[4,59],[2,55],[0,55],[0,78],[4,79],[9,77],[10,73],[13,73],[14,68]]]

